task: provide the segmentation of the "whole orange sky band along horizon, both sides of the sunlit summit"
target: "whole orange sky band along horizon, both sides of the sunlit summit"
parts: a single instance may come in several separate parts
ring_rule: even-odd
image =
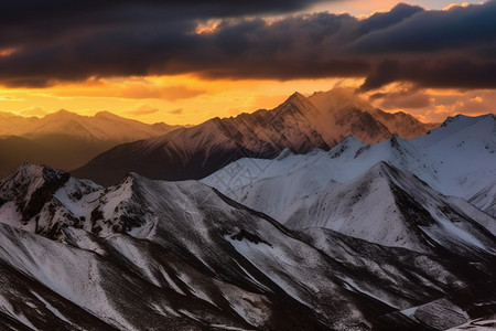
[[[358,87],[363,82],[363,78],[207,81],[195,75],[89,78],[46,88],[0,87],[0,111],[43,117],[60,109],[85,116],[108,110],[149,124],[196,125],[213,117],[271,109],[294,92],[309,96],[337,86]],[[371,103],[389,113],[409,113],[422,121],[439,122],[456,114],[476,116],[495,111],[494,90],[414,90],[409,84],[395,83],[363,97],[377,93],[393,95],[392,103],[384,98]],[[428,100],[429,105],[406,108],[411,95]]]

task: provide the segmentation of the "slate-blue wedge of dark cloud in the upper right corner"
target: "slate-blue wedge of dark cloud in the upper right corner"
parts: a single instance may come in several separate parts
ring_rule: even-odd
[[[496,1],[423,11],[388,29],[370,32],[349,47],[367,54],[477,51],[496,44]],[[488,44],[486,44],[488,43]]]

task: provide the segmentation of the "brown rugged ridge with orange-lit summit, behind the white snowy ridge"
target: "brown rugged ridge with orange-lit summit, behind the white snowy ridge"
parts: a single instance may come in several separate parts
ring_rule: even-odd
[[[328,150],[349,135],[365,142],[417,137],[433,125],[398,113],[375,109],[347,88],[295,93],[272,110],[213,118],[158,138],[118,146],[73,171],[101,184],[114,184],[130,171],[152,179],[201,179],[244,158],[270,159],[288,148],[294,153]]]

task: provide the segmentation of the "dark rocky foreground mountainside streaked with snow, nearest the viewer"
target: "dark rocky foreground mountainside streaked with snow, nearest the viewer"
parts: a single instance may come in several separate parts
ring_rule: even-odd
[[[293,233],[196,181],[129,174],[103,189],[24,164],[0,188],[0,324],[370,330],[384,316],[476,293],[494,278],[484,250],[424,255],[326,229]],[[32,204],[26,224],[37,226],[4,222]],[[11,284],[19,290],[6,291]]]

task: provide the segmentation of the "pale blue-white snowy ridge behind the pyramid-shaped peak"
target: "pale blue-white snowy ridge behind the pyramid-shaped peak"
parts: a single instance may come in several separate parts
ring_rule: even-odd
[[[284,210],[296,197],[320,192],[333,181],[352,181],[377,162],[386,161],[416,174],[446,195],[471,199],[477,192],[489,190],[488,196],[484,197],[488,207],[494,194],[490,194],[493,186],[487,183],[496,180],[495,127],[494,115],[459,116],[416,139],[392,136],[387,141],[365,146],[351,137],[331,151],[314,150],[304,156],[284,153],[273,160],[241,159],[202,181],[250,207],[276,216],[273,212]],[[295,191],[287,190],[287,186],[277,189],[281,182],[288,185],[301,178],[312,180]],[[317,178],[321,181],[315,180]],[[281,195],[270,210],[263,201],[270,201],[273,194],[258,193],[267,190],[279,191]]]

